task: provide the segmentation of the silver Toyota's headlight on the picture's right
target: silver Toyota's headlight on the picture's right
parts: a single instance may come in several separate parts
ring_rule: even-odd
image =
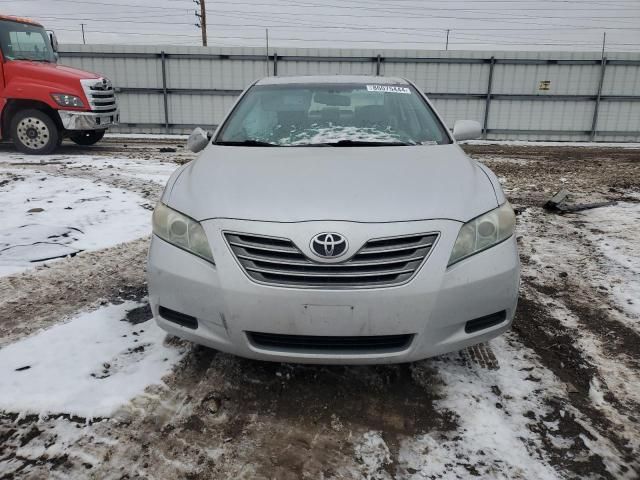
[[[493,247],[513,235],[516,215],[509,202],[465,223],[449,258],[449,265]]]

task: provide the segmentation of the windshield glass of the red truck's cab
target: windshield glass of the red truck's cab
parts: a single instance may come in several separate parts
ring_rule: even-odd
[[[5,60],[55,61],[49,35],[37,25],[0,20],[0,48]]]

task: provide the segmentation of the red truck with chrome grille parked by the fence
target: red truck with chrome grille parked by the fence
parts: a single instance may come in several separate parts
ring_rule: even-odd
[[[63,138],[93,145],[119,113],[111,81],[58,65],[58,42],[37,22],[0,15],[0,139],[47,154]]]

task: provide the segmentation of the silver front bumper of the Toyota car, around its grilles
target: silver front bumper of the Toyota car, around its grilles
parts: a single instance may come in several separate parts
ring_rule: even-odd
[[[459,350],[509,328],[516,308],[519,261],[515,238],[447,268],[459,222],[437,220],[387,224],[239,220],[203,222],[216,261],[212,265],[153,237],[149,250],[149,299],[167,332],[243,357],[300,363],[397,363]],[[317,232],[339,231],[358,242],[370,238],[440,232],[416,276],[404,285],[369,289],[301,289],[261,285],[247,277],[223,231],[258,233],[307,243]],[[159,307],[198,321],[196,329],[159,315]],[[468,321],[505,311],[497,325],[466,333]],[[313,312],[316,312],[314,314]],[[329,351],[264,348],[247,332],[304,336],[413,335],[397,351]]]

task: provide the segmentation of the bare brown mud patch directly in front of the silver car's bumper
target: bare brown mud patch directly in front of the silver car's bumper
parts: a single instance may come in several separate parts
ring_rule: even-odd
[[[167,383],[169,398],[144,417],[123,412],[108,433],[126,438],[110,458],[162,478],[352,478],[353,442],[367,431],[397,458],[405,436],[456,428],[433,407],[435,372],[408,365],[289,365],[194,347]]]

